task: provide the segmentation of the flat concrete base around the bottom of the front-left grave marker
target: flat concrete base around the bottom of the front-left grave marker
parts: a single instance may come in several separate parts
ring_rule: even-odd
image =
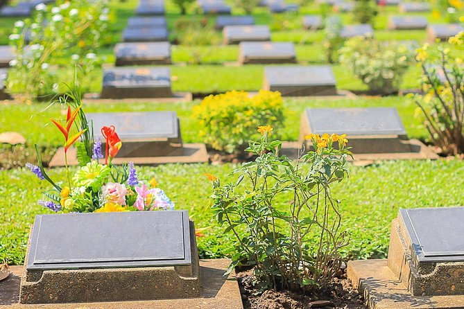
[[[8,279],[0,281],[0,308],[2,309],[239,309],[243,308],[239,285],[234,272],[223,276],[230,260],[214,259],[200,261],[201,291],[194,299],[160,299],[155,301],[120,301],[101,303],[63,303],[26,305],[19,303],[19,283],[22,266],[12,266]],[[76,291],[83,293],[85,291]],[[127,293],[130,293],[128,291]]]

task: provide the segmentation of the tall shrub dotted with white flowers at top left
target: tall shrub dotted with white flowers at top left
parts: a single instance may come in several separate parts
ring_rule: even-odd
[[[10,35],[16,59],[10,62],[8,88],[29,98],[53,94],[58,89],[51,64],[57,64],[58,58],[68,58],[65,65],[78,65],[86,76],[101,64],[95,51],[107,28],[106,0],[58,0],[53,7],[38,4],[33,17],[17,21]]]

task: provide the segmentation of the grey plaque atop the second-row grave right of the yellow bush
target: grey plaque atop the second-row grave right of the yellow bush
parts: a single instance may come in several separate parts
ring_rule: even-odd
[[[403,123],[393,107],[309,108],[306,114],[314,134],[406,136]]]

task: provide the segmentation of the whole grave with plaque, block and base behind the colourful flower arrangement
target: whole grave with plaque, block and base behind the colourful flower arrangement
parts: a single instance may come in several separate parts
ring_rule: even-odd
[[[180,123],[175,112],[122,112],[89,113],[87,119],[94,127],[114,125],[124,147],[119,150],[115,164],[132,161],[138,165],[166,163],[196,163],[208,161],[204,144],[184,144],[180,135]],[[96,136],[103,143],[103,136]],[[65,164],[61,148],[50,166]],[[68,150],[68,164],[77,164],[76,150]]]

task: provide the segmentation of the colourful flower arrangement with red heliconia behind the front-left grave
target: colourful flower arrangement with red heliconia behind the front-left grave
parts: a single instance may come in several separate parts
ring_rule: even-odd
[[[74,87],[69,87],[69,93],[60,97],[60,103],[67,105],[66,122],[62,124],[51,120],[65,137],[65,182],[54,182],[46,174],[37,145],[38,166],[26,164],[39,179],[53,186],[44,193],[49,200],[39,201],[39,204],[52,211],[65,213],[174,209],[169,197],[157,188],[154,178],[149,182],[138,179],[132,162],[122,166],[112,164],[112,159],[122,147],[113,125],[101,128],[105,139],[103,154],[101,141],[94,139],[92,124],[87,122],[80,98],[80,88],[74,83]],[[71,134],[73,130],[77,133]],[[67,152],[71,145],[76,147],[80,165],[74,175],[69,172],[67,164]]]

